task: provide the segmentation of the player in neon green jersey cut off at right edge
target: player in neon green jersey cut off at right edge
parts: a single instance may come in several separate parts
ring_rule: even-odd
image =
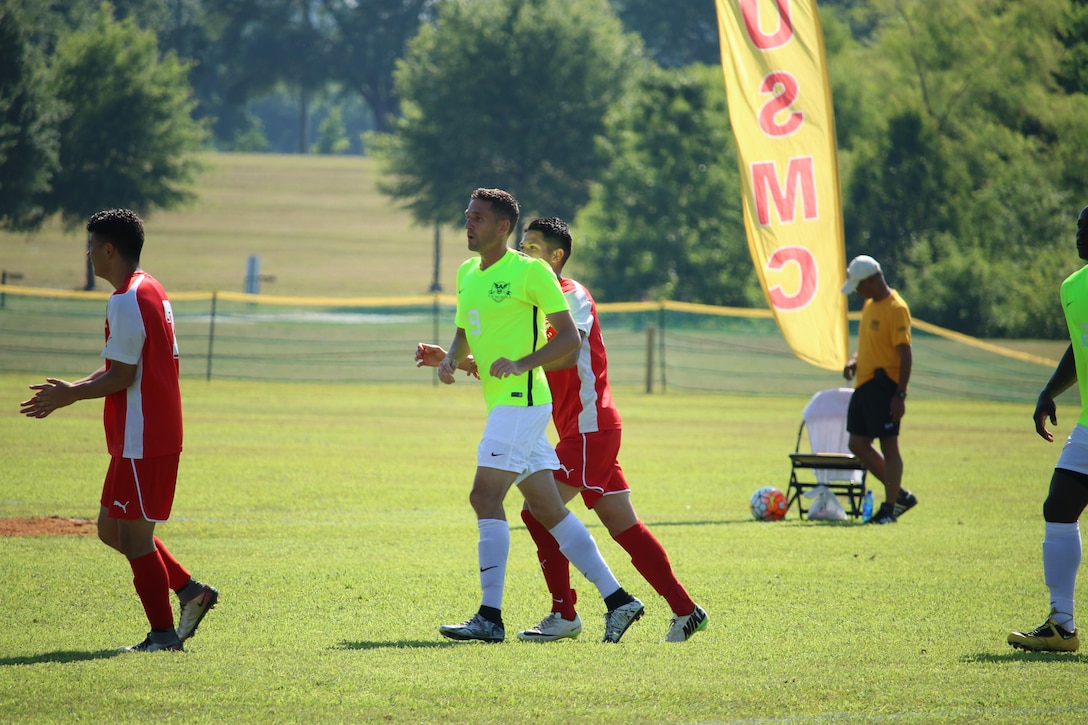
[[[1088,260],[1088,207],[1077,219],[1077,254]],[[1058,423],[1054,397],[1078,383],[1080,418],[1065,441],[1050,479],[1050,493],[1042,503],[1047,530],[1042,539],[1042,572],[1050,589],[1050,616],[1031,631],[1014,631],[1009,643],[1035,652],[1076,652],[1080,647],[1073,618],[1073,592],[1080,568],[1080,525],[1088,505],[1088,267],[1070,274],[1062,282],[1062,308],[1070,328],[1070,346],[1054,368],[1035,405],[1035,430],[1046,441],[1054,435],[1047,430],[1047,418]]]

